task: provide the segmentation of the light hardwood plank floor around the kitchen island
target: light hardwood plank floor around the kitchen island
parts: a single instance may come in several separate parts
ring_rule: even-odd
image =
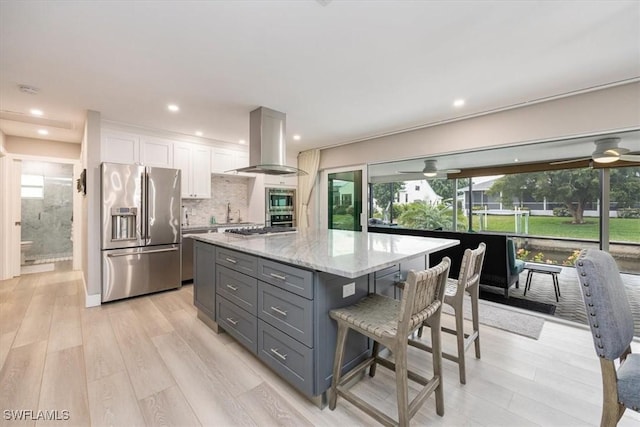
[[[0,425],[374,424],[344,400],[335,411],[317,408],[215,334],[196,318],[192,288],[86,309],[77,271],[0,281]],[[443,340],[453,351],[454,340]],[[599,362],[588,330],[546,321],[536,341],[481,325],[481,340],[482,359],[468,357],[467,385],[443,361],[445,416],[431,398],[412,425],[599,424]],[[428,374],[429,357],[412,349],[411,367]],[[354,390],[395,416],[389,371]],[[69,419],[8,420],[12,410],[68,411]],[[628,410],[619,425],[639,426],[640,414]]]

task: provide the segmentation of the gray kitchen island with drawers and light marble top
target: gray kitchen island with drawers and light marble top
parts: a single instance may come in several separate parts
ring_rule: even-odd
[[[198,317],[226,331],[290,384],[322,406],[331,385],[336,326],[329,310],[369,292],[395,294],[410,269],[457,240],[303,230],[238,236],[194,235],[194,304]],[[370,351],[349,336],[343,369]]]

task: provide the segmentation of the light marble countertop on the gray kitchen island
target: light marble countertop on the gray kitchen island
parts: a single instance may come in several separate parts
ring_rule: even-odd
[[[194,234],[193,239],[348,278],[456,246],[459,240],[344,230],[239,236]]]

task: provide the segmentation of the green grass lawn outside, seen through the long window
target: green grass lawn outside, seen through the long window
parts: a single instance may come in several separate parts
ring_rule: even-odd
[[[598,218],[585,218],[584,224],[571,224],[571,218],[557,216],[530,216],[529,235],[568,237],[576,239],[598,240]],[[524,225],[521,232],[524,233]],[[513,215],[489,215],[487,227],[480,227],[480,217],[473,216],[473,229],[476,231],[515,232]],[[609,231],[612,241],[640,242],[640,219],[611,218]]]

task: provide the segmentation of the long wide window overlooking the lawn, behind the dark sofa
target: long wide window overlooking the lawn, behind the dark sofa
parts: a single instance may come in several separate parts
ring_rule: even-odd
[[[608,188],[602,188],[605,174]],[[640,167],[457,180],[375,182],[372,177],[372,226],[504,233],[516,237],[520,259],[558,265],[573,265],[580,249],[601,247],[604,230],[620,270],[640,273]],[[607,207],[602,206],[602,191],[609,195]],[[608,227],[602,228],[602,221]]]

